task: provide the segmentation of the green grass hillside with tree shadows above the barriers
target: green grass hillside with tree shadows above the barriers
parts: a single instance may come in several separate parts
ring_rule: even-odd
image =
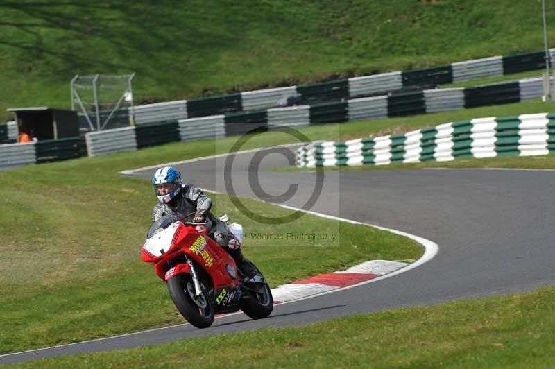
[[[4,119],[69,108],[76,74],[135,71],[146,103],[543,49],[540,0],[3,1],[0,18]]]

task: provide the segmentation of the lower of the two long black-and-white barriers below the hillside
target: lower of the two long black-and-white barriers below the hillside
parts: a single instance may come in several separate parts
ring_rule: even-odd
[[[344,102],[239,113],[228,112],[209,117],[189,117],[177,121],[142,123],[132,127],[87,132],[85,141],[79,141],[79,144],[74,141],[71,141],[71,144],[69,141],[49,144],[40,142],[36,149],[33,148],[33,153],[30,150],[22,149],[21,157],[19,157],[19,148],[0,145],[0,168],[71,159],[84,155],[84,144],[86,144],[85,155],[98,156],[120,151],[133,151],[176,141],[218,139],[232,135],[243,135],[247,132],[265,132],[266,130],[283,128],[298,128],[361,119],[383,119],[409,114],[422,114],[424,112],[444,112],[481,105],[513,103],[538,98],[542,94],[543,78],[531,78],[519,80],[515,83],[497,83],[459,89],[429,89],[423,92],[353,98]],[[182,103],[181,109],[184,106]],[[4,142],[17,141],[17,130],[14,122],[0,125],[0,138],[2,137]],[[387,145],[387,142],[378,141],[377,145],[377,150],[379,150],[381,145]],[[422,147],[422,150],[426,151],[427,147]],[[76,151],[78,151],[78,154],[76,154]],[[377,153],[377,161],[381,162],[382,154],[379,151]],[[341,160],[343,159],[345,158]],[[364,160],[364,162],[368,162],[368,160],[371,162],[373,159],[366,157]]]

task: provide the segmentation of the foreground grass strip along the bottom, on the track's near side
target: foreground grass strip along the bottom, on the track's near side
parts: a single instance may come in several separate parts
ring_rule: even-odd
[[[552,368],[554,309],[555,287],[545,287],[12,367]]]

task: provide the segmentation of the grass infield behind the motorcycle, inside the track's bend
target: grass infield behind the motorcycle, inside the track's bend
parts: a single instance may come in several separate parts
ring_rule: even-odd
[[[262,144],[262,137],[255,137],[251,144],[256,145],[257,139]],[[171,144],[2,172],[0,352],[183,323],[165,284],[140,260],[156,201],[151,186],[117,172],[212,155],[225,151],[231,140],[218,141],[217,149],[214,142]],[[244,252],[272,286],[369,259],[418,259],[422,255],[422,247],[404,237],[308,214],[284,225],[253,223],[234,208],[228,196],[211,197],[214,214],[227,212],[244,225]],[[255,200],[243,202],[266,216],[290,213]],[[323,230],[336,239],[288,237],[322,234]]]

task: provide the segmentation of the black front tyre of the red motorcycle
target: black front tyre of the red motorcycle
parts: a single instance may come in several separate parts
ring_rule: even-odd
[[[187,282],[189,280],[191,280],[191,277],[178,274],[171,277],[167,281],[171,300],[173,300],[173,304],[176,305],[183,318],[185,318],[187,322],[191,323],[191,325],[194,325],[197,328],[210,327],[210,325],[214,322],[214,305],[212,304],[212,300],[210,300],[206,291],[203,291],[204,298],[210,311],[207,316],[200,314],[198,305],[187,292]]]

